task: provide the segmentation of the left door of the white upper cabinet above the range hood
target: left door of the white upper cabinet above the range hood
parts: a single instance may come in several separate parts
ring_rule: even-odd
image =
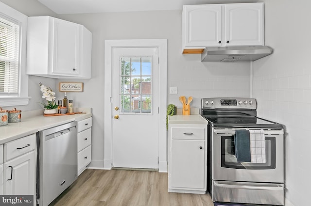
[[[190,5],[183,11],[184,46],[221,45],[221,5]]]

